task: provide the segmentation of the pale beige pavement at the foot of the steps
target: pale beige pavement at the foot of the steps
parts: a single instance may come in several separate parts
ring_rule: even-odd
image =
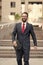
[[[43,58],[30,58],[30,65],[43,65]],[[0,65],[17,65],[16,58],[0,58]],[[24,65],[22,59],[22,65]]]

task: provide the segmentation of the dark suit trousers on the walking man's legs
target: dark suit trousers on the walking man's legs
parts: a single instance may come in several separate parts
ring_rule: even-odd
[[[24,58],[24,65],[29,65],[29,49],[16,50],[16,57],[18,65],[22,65],[22,57]]]

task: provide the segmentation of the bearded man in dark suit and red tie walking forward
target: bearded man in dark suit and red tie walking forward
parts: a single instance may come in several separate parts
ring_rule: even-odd
[[[37,48],[36,36],[33,30],[32,24],[27,22],[28,13],[22,13],[22,22],[15,25],[12,32],[12,41],[14,47],[17,47],[15,36],[17,34],[17,40],[21,44],[20,49],[16,49],[17,63],[22,65],[22,56],[24,57],[24,65],[29,65],[29,52],[30,52],[30,34],[33,38],[34,48]]]

